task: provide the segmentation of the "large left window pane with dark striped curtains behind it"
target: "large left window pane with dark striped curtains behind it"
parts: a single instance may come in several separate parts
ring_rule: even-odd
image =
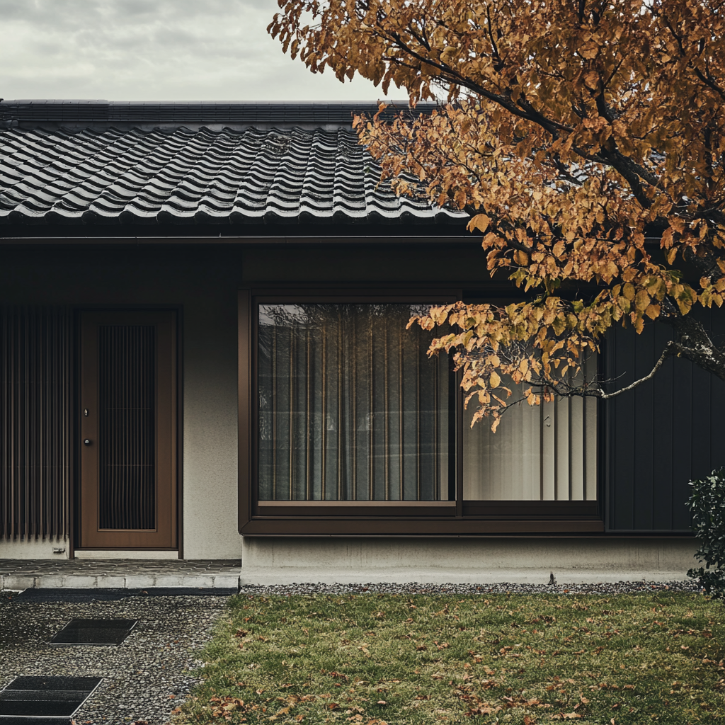
[[[447,357],[421,305],[260,305],[260,500],[449,498]]]

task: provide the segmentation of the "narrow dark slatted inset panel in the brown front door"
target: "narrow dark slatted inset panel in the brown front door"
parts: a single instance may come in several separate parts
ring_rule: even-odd
[[[99,327],[99,528],[156,526],[156,328]]]

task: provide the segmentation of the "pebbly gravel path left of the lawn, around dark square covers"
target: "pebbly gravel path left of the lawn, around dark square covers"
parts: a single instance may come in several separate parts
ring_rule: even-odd
[[[18,675],[99,676],[79,724],[166,723],[197,679],[196,650],[228,597],[127,597],[43,602],[0,595],[0,688]],[[72,618],[138,619],[122,645],[68,647],[48,641]]]

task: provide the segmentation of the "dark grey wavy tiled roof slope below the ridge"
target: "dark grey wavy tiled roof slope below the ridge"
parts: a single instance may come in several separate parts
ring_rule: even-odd
[[[398,198],[349,128],[9,128],[0,223],[459,223]]]

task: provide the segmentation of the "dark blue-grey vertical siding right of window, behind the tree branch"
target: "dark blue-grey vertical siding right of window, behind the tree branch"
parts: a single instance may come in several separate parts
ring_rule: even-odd
[[[698,314],[722,344],[725,312]],[[641,335],[616,329],[605,349],[604,376],[624,386],[647,375],[669,339],[663,323]],[[602,405],[608,530],[689,531],[688,482],[725,465],[724,411],[725,383],[679,358]]]

